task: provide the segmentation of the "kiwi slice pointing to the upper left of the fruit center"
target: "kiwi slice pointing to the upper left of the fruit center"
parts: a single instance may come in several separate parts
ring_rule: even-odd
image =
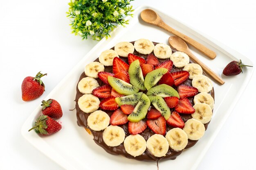
[[[108,76],[108,83],[113,89],[115,89],[115,91],[126,96],[139,92],[137,87],[134,87],[133,85],[126,83],[119,78]]]

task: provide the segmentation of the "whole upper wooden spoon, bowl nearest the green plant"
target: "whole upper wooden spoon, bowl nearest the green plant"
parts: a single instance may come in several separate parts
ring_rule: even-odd
[[[141,11],[140,13],[141,19],[149,24],[159,26],[160,28],[163,28],[164,30],[182,38],[184,41],[189,43],[194,48],[198,49],[200,52],[202,52],[204,55],[209,57],[210,59],[215,59],[216,53],[210,50],[209,48],[205,47],[204,45],[200,44],[199,42],[193,40],[192,38],[180,33],[179,31],[171,28],[167,24],[164,23],[164,21],[157,15],[157,13],[151,9],[145,9]]]

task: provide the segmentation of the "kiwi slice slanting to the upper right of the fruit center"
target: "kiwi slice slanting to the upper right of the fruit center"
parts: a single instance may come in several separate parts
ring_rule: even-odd
[[[167,73],[168,70],[166,68],[158,68],[156,70],[153,70],[152,72],[149,72],[144,81],[144,85],[147,90],[149,90],[151,87],[156,85],[158,81],[162,78],[162,76]]]

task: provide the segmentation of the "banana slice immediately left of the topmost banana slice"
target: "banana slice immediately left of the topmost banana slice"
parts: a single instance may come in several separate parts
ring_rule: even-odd
[[[115,46],[115,51],[119,56],[128,57],[129,53],[134,52],[134,46],[129,42],[119,42]]]

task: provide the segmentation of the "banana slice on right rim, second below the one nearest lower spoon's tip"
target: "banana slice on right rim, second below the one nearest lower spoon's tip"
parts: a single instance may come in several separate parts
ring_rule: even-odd
[[[198,103],[193,106],[195,112],[191,114],[192,118],[199,120],[203,124],[210,122],[212,116],[211,107],[205,103]]]

